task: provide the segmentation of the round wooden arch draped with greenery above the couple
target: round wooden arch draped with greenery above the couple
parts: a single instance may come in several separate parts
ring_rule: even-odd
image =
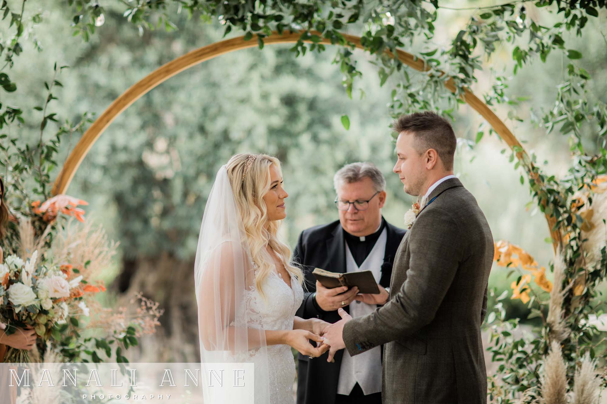
[[[314,34],[322,36],[317,32],[314,32]],[[347,34],[342,35],[348,42],[354,44],[355,47],[364,50],[364,46],[362,46],[361,38],[359,36]],[[265,45],[288,44],[299,41],[300,36],[301,34],[297,32],[283,33],[282,35],[275,32],[273,35],[264,38],[263,42]],[[331,41],[325,38],[322,38],[319,43],[331,45]],[[137,101],[137,99],[139,99],[141,96],[154,89],[154,87],[158,86],[158,84],[161,84],[177,73],[183,72],[183,70],[189,69],[192,66],[217,56],[224,55],[225,53],[252,47],[257,47],[257,41],[245,41],[244,36],[215,42],[214,44],[204,46],[200,49],[192,50],[192,52],[188,52],[185,55],[164,64],[163,66],[154,70],[154,72],[150,73],[148,76],[135,83],[128,90],[122,93],[122,95],[115,99],[109,107],[107,107],[107,109],[84,133],[80,141],[78,141],[78,144],[76,144],[69,157],[67,157],[65,166],[63,169],[61,169],[61,172],[53,184],[52,194],[58,195],[66,192],[67,187],[72,182],[72,178],[76,173],[76,170],[78,170],[78,167],[80,167],[84,157],[86,157],[95,141],[97,141],[104,130],[106,130],[106,128],[118,117],[118,115],[120,115],[120,113],[131,106],[131,104]],[[388,52],[388,54],[392,57],[395,56],[390,52]],[[396,57],[407,66],[410,66],[415,70],[419,70],[420,72],[429,70],[429,67],[424,59],[418,58],[410,53],[402,50],[396,50]],[[445,86],[451,92],[456,92],[456,86],[453,83],[453,79],[448,79],[445,82]],[[483,103],[483,101],[481,101],[469,89],[464,89],[464,93],[461,98],[467,104],[469,104],[472,109],[483,116],[483,118],[491,125],[493,130],[495,130],[500,138],[502,138],[508,144],[508,146],[510,146],[510,149],[516,150],[515,155],[517,156],[518,160],[521,161],[521,163],[524,163],[525,160],[529,161],[527,152],[524,150],[523,145],[521,145],[521,143],[512,134],[512,132],[510,132],[500,118],[498,118],[498,116],[495,115],[495,113],[493,113],[493,111],[490,110],[489,107]],[[516,149],[514,149],[515,147]],[[559,240],[560,237],[558,236],[558,233],[553,231],[555,224],[554,217],[546,215],[546,219],[548,220],[552,240]]]

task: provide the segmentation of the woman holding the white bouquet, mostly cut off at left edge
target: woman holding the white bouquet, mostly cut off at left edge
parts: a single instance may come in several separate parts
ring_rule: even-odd
[[[2,181],[2,178],[0,178],[0,240],[6,235],[5,225],[7,221],[8,207],[4,202],[4,182]],[[0,263],[3,262],[4,251],[2,251],[2,247],[0,247]],[[33,328],[18,328],[17,331],[11,335],[6,335],[4,333],[4,328],[5,325],[0,323],[0,363],[4,362],[4,355],[8,346],[17,349],[33,349],[36,345],[36,332]],[[10,391],[8,391],[6,388],[8,386],[8,374],[5,370],[7,369],[0,368],[0,402],[14,404],[17,398],[17,390],[10,389]]]

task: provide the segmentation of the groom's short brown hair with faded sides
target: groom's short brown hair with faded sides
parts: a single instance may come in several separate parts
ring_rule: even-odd
[[[421,154],[436,150],[446,170],[453,169],[457,139],[449,121],[438,113],[424,111],[402,115],[392,123],[396,133],[409,132],[415,136],[415,149]]]

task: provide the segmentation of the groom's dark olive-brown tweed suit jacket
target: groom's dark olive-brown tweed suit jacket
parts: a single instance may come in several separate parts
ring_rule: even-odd
[[[481,323],[493,237],[458,179],[433,198],[396,251],[390,300],[344,326],[351,355],[384,344],[384,404],[487,402]]]

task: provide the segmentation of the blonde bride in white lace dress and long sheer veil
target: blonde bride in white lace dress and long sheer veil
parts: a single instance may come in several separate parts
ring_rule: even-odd
[[[328,350],[320,344],[328,323],[295,316],[304,277],[278,236],[287,216],[282,184],[277,158],[234,155],[217,172],[194,264],[203,368],[253,363],[254,402],[264,404],[293,402],[290,347],[310,357]],[[215,402],[208,384],[205,403]]]

